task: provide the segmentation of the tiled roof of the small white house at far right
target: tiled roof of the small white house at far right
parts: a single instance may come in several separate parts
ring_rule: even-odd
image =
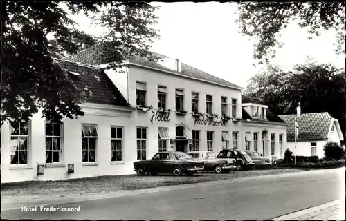
[[[279,115],[289,126],[287,127],[287,141],[294,142],[295,115]],[[297,141],[326,140],[331,124],[331,115],[322,113],[303,113],[298,117]]]

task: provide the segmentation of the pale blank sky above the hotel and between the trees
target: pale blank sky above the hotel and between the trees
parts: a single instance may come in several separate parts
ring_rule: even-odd
[[[160,6],[156,11],[160,40],[152,45],[152,52],[177,58],[210,75],[246,87],[247,81],[260,71],[253,66],[254,39],[239,33],[235,3],[151,3]],[[91,35],[102,35],[103,29],[83,15],[71,16],[80,30]],[[345,67],[345,55],[335,55],[334,31],[323,31],[319,37],[308,39],[307,30],[293,24],[282,31],[284,46],[277,50],[272,64],[292,68],[311,57],[319,63]]]

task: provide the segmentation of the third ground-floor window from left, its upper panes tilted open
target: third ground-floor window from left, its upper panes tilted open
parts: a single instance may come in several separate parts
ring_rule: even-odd
[[[98,128],[95,124],[82,124],[82,162],[96,162]]]

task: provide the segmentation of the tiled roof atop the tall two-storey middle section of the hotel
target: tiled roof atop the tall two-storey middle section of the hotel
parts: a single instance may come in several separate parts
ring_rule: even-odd
[[[82,64],[89,64],[89,65],[99,65],[99,64],[106,64],[107,59],[102,57],[102,49],[103,44],[98,44],[96,46],[92,46],[91,48],[87,48],[86,50],[82,50],[81,52],[78,52],[77,55],[71,55],[69,57],[66,57],[64,59],[69,60],[69,61],[75,61],[79,62]],[[160,59],[165,59],[168,58],[165,55],[160,55],[158,53],[152,52],[154,56],[160,58]],[[137,55],[133,55],[129,57],[129,61],[135,62],[135,63],[140,63],[140,64],[145,64],[146,66],[152,66],[154,68],[161,68],[163,70],[170,70],[169,68],[158,64],[155,61],[149,61],[145,57],[140,57]],[[170,70],[172,71],[172,70]],[[223,86],[228,86],[228,87],[233,87],[233,88],[239,88],[239,86],[232,84],[228,81],[225,81],[224,79],[221,79],[219,77],[215,77],[213,75],[210,75],[208,73],[205,73],[201,70],[198,70],[197,68],[192,68],[191,66],[188,66],[187,64],[183,64],[181,62],[181,72],[176,72],[181,75],[184,75],[186,77],[195,77],[197,79],[201,80],[206,80],[210,81],[213,83],[221,84]]]

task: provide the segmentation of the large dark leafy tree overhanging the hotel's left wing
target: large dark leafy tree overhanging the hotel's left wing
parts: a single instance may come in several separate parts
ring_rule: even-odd
[[[66,4],[68,10],[62,7]],[[6,119],[42,117],[60,122],[84,115],[85,101],[66,73],[53,60],[104,43],[107,57],[119,64],[129,55],[151,57],[156,7],[147,3],[115,1],[59,3],[54,1],[1,1],[1,124]],[[97,39],[75,28],[67,12],[93,16],[107,35]],[[53,39],[48,39],[52,35]],[[110,56],[111,55],[111,56]]]

